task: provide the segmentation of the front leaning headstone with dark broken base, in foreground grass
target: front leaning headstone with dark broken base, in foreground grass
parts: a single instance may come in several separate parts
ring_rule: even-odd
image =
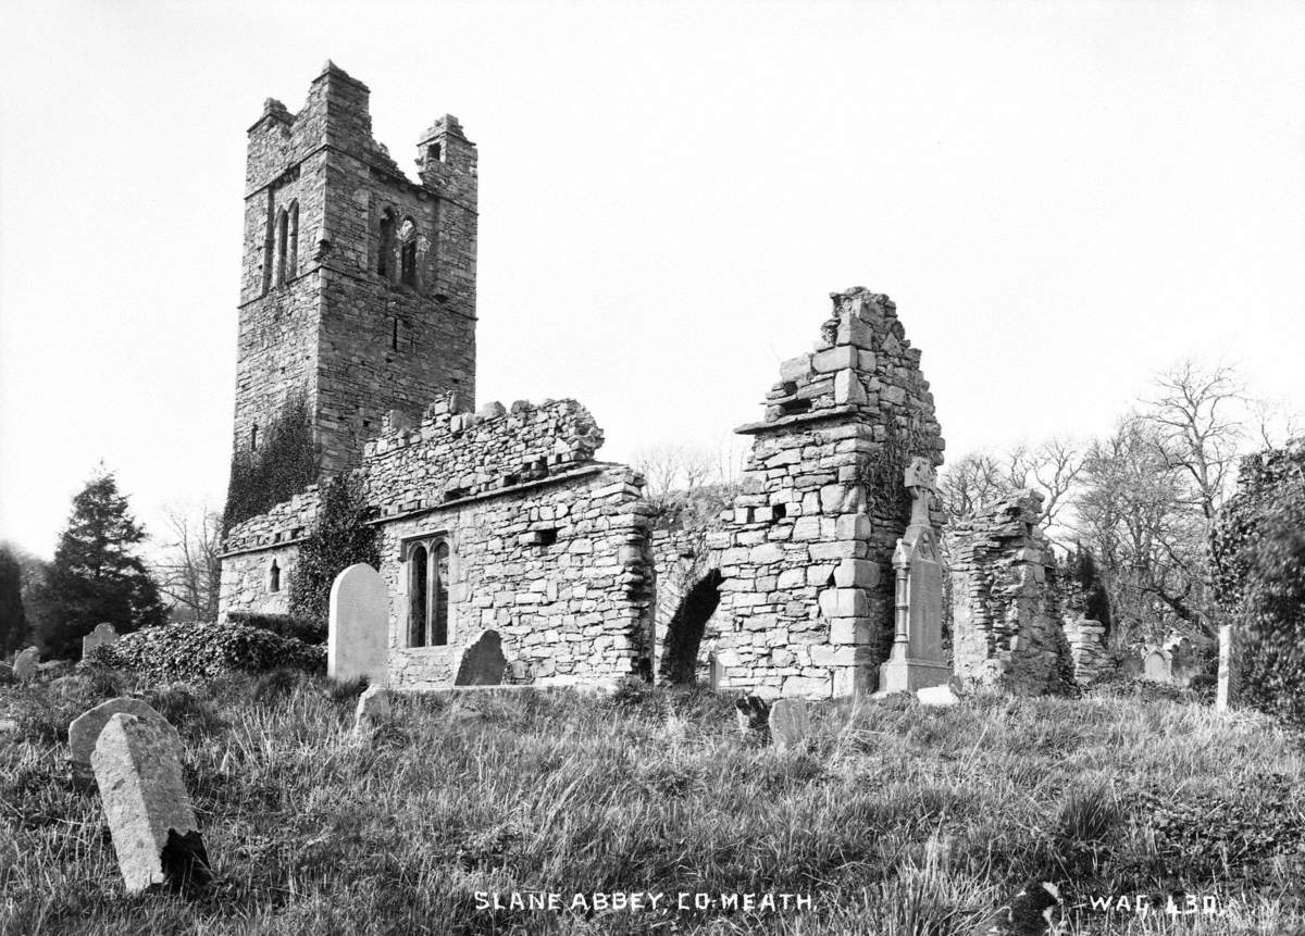
[[[99,733],[91,765],[127,893],[207,884],[209,858],[167,733],[119,712]]]

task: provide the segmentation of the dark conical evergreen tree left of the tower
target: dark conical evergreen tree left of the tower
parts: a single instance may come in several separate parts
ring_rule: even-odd
[[[158,588],[132,553],[144,538],[112,473],[100,471],[73,498],[68,528],[38,592],[37,637],[48,654],[76,657],[81,639],[100,622],[119,634],[164,623]]]

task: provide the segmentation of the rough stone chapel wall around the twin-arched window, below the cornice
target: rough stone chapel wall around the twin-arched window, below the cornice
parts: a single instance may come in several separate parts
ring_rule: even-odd
[[[390,589],[390,682],[436,688],[457,649],[483,630],[526,682],[620,679],[651,656],[651,508],[642,478],[620,465],[489,491],[381,523]],[[410,647],[408,544],[449,545],[449,645]]]

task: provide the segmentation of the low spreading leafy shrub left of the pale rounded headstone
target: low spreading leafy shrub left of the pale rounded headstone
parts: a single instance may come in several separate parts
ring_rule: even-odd
[[[149,627],[100,647],[95,661],[134,670],[153,683],[209,679],[228,671],[264,673],[292,666],[318,671],[326,648],[248,624],[200,623]]]

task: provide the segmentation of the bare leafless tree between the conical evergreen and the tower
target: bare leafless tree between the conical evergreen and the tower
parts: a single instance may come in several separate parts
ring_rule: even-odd
[[[168,604],[187,619],[214,621],[222,583],[222,514],[167,507],[167,541],[154,563],[154,578]]]

